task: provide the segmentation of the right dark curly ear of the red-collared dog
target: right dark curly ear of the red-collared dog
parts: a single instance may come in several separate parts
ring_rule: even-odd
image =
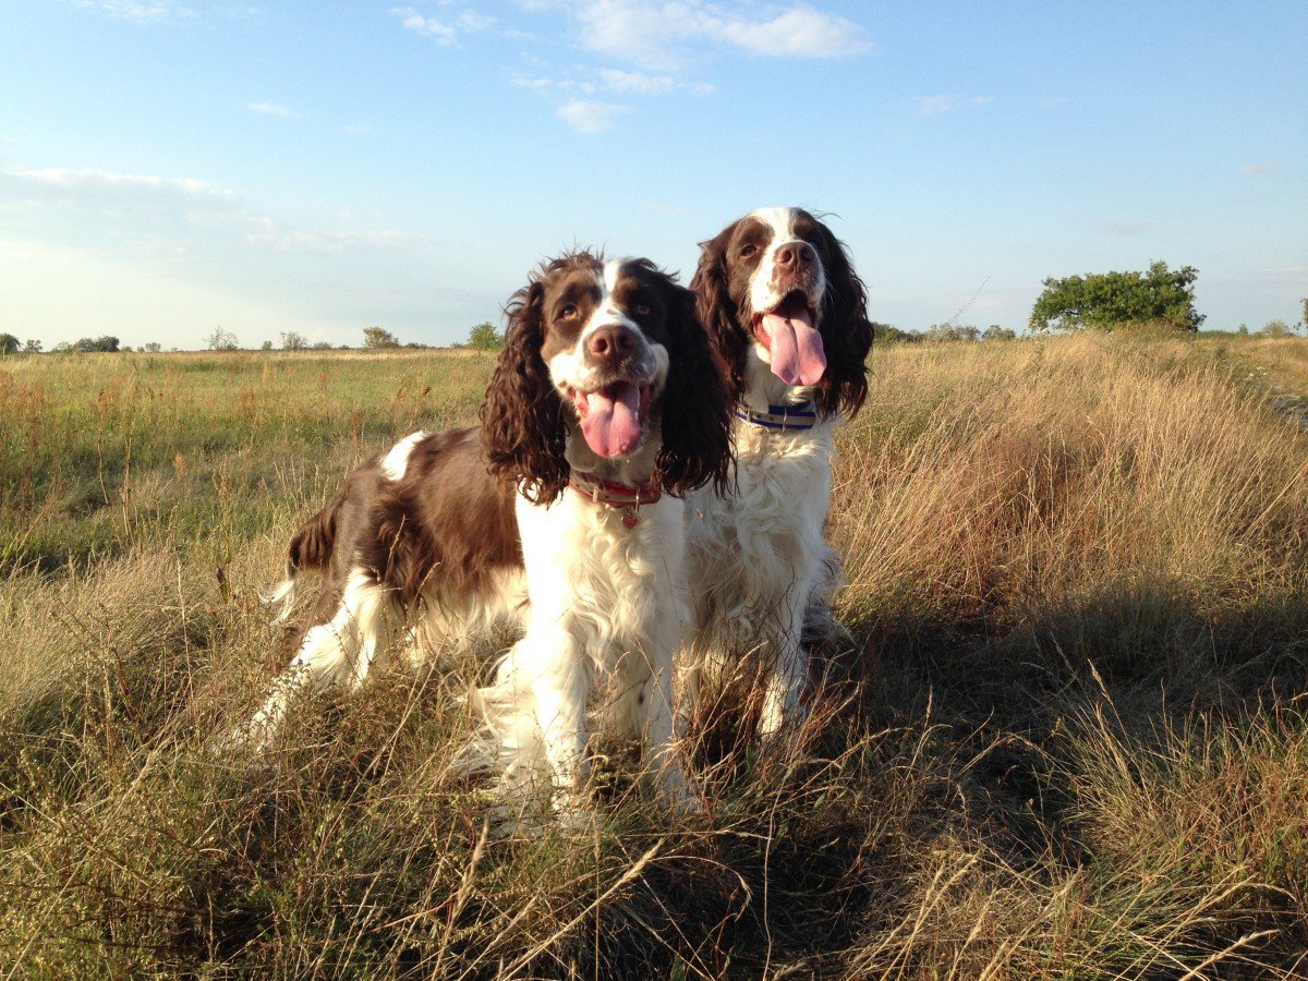
[[[731,477],[732,399],[696,314],[696,297],[663,277],[667,306],[667,387],[663,391],[663,446],[657,468],[659,485],[680,497],[704,484],[721,496]]]

